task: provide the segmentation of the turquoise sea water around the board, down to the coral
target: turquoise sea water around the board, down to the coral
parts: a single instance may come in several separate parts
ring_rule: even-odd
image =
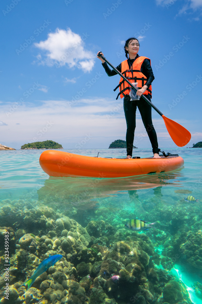
[[[133,218],[150,223],[157,222],[158,235],[156,237],[152,237],[151,231],[141,233],[150,233],[148,235],[160,255],[165,250],[162,236],[168,234],[172,240],[179,232],[198,233],[202,230],[201,148],[164,149],[165,153],[170,152],[183,157],[184,166],[175,171],[112,179],[49,177],[39,164],[39,157],[43,151],[0,151],[1,207],[10,201],[22,199],[29,202],[33,200],[43,202],[53,208],[54,201],[55,211],[72,217],[83,227],[92,220],[96,221],[99,214],[96,211],[100,208],[104,210],[104,207],[108,210],[108,215],[113,214],[113,220],[108,224],[114,227],[120,223],[119,227],[123,225],[124,228],[124,220]],[[126,155],[125,149],[64,149],[61,151],[91,157],[97,156],[98,152],[99,157],[125,157]],[[134,149],[133,156],[151,157],[151,149]],[[192,195],[199,201],[193,204],[186,202],[184,199],[187,195]],[[65,213],[67,206],[68,214]],[[74,209],[72,213],[71,206]],[[156,206],[161,211],[160,215],[155,209]],[[121,218],[123,214],[124,218]],[[103,219],[106,222],[108,220],[106,215]],[[10,226],[12,225],[16,229],[11,219]],[[120,240],[123,240],[123,237]],[[202,250],[202,242],[200,246]],[[193,251],[192,254],[198,253]],[[196,295],[192,287],[194,282],[202,284],[202,268],[197,269],[193,264],[189,264],[186,254],[179,256],[173,262],[174,267],[171,272],[184,282],[191,301],[201,304],[202,291],[201,295]],[[161,264],[156,267],[163,268]]]

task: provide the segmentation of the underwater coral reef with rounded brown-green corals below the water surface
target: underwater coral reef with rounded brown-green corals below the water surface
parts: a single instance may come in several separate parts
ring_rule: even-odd
[[[176,261],[202,268],[201,212],[188,207],[131,200],[139,216],[151,217],[156,230],[128,231],[135,216],[101,203],[85,214],[89,201],[61,207],[51,196],[5,199],[0,202],[0,303],[16,304],[191,304],[186,286],[170,271]],[[159,204],[161,202],[161,204]],[[96,203],[97,204],[97,203]],[[113,206],[112,206],[113,207]],[[79,209],[81,208],[81,209]],[[141,214],[142,212],[142,214]],[[196,219],[196,212],[198,218]],[[187,216],[186,216],[187,215]],[[79,223],[80,222],[80,223]],[[82,225],[83,226],[82,226]],[[9,232],[9,299],[5,298],[4,237]],[[25,282],[44,259],[62,258],[39,275],[28,289]],[[201,285],[195,282],[201,296]]]

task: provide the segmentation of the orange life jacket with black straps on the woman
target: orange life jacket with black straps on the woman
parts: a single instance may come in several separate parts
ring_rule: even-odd
[[[130,70],[129,70],[127,60],[124,60],[124,61],[121,62],[121,74],[123,74],[131,83],[132,82],[137,82],[138,83],[138,89],[141,89],[147,81],[146,76],[140,71],[141,70],[141,65],[142,65],[144,59],[148,59],[150,61],[150,64],[151,64],[151,60],[149,58],[144,57],[144,56],[139,56],[133,62]],[[122,77],[119,81],[119,85],[114,89],[114,91],[116,91],[116,89],[118,87],[119,87],[120,92],[118,93],[116,99],[118,99],[119,95],[120,95],[121,98],[123,98],[125,95],[129,94],[129,88],[130,88],[129,84]],[[143,94],[144,95],[147,95],[147,94],[151,95],[151,85],[149,86],[149,88],[147,88],[147,90]]]

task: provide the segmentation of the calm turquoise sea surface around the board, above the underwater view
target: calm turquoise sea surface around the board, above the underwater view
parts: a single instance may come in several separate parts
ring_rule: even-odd
[[[173,197],[175,190],[182,187],[194,192],[195,197],[201,196],[202,191],[202,149],[164,149],[165,152],[170,151],[173,154],[179,154],[184,159],[184,166],[176,171],[162,174],[152,174],[150,176],[141,175],[139,177],[118,178],[111,180],[99,180],[96,187],[101,189],[102,195],[110,191],[138,190],[139,195],[144,197],[152,193],[155,186],[163,187],[161,191],[163,195]],[[83,149],[83,150],[62,150],[70,153],[97,156],[98,152],[101,157],[124,157],[125,149]],[[136,150],[134,150],[136,152]],[[55,185],[64,185],[68,183],[68,187],[77,187],[85,190],[94,179],[88,178],[49,178],[49,176],[41,169],[39,165],[39,157],[43,150],[16,150],[1,151],[1,171],[0,171],[0,199],[19,198],[22,193],[32,192],[33,198],[37,199],[37,190],[49,183]],[[135,155],[140,157],[150,157],[150,149],[138,149]],[[142,183],[142,185],[141,185]],[[95,182],[96,184],[96,182]],[[153,186],[153,187],[152,187]],[[151,188],[147,191],[142,188]],[[93,191],[94,192],[94,191]],[[36,196],[34,197],[34,194]],[[182,195],[183,197],[183,195]]]

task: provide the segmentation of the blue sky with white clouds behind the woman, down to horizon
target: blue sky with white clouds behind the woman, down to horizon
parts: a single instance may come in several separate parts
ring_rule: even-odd
[[[123,99],[96,54],[117,66],[136,36],[151,59],[152,103],[202,140],[202,0],[1,2],[0,143],[54,140],[65,149],[108,148],[125,140]],[[177,147],[152,110],[161,149]],[[151,144],[137,110],[134,144]]]

